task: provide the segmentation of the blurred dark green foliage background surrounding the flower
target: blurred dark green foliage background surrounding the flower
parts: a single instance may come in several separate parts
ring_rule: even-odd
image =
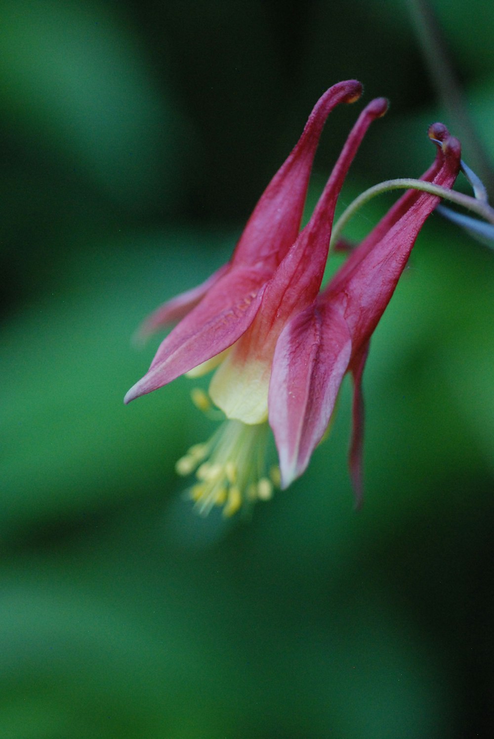
[[[434,0],[494,153],[494,5]],[[127,408],[129,337],[227,259],[319,95],[391,99],[343,193],[456,121],[405,3],[0,1],[2,739],[492,736],[494,254],[433,215],[307,474],[247,524],[174,460],[214,424],[180,378]],[[361,103],[337,109],[314,203]],[[464,149],[469,161],[469,151]],[[360,238],[391,200],[349,227]]]

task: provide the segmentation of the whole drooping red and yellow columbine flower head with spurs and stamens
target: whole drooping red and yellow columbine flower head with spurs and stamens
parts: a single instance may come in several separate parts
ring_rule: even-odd
[[[303,201],[329,111],[337,103],[353,102],[360,90],[359,83],[349,81],[320,98],[297,146],[259,200],[230,262],[203,285],[159,308],[145,324],[148,331],[182,317],[162,342],[148,373],[129,390],[126,402],[185,372],[199,374],[217,367],[210,396],[229,420],[210,443],[193,447],[177,466],[182,474],[196,469],[198,482],[191,497],[202,510],[219,504],[231,514],[246,499],[269,497],[276,473],[271,481],[265,474],[265,440],[259,441],[267,432],[268,409],[283,486],[306,468],[347,370],[354,373],[360,388],[368,338],[399,278],[396,265],[394,272],[388,270],[387,283],[380,278],[387,285],[381,287],[387,298],[377,299],[373,309],[375,290],[374,297],[363,290],[366,279],[372,282],[367,270],[376,269],[371,255],[387,253],[382,259],[391,265],[390,255],[406,249],[398,249],[397,236],[390,240],[388,233],[405,231],[409,253],[422,222],[436,205],[431,196],[405,195],[319,295],[337,197],[368,126],[387,108],[384,98],[371,101],[360,114],[309,223],[298,234]],[[443,170],[446,162],[453,161],[450,151],[455,145],[444,128],[436,126],[433,134],[442,140],[442,149],[424,177],[450,186],[456,176],[454,167],[450,176]],[[407,231],[399,224],[409,211]],[[366,277],[359,277],[362,269]],[[359,311],[366,318],[357,321]],[[357,434],[353,446],[360,449]]]

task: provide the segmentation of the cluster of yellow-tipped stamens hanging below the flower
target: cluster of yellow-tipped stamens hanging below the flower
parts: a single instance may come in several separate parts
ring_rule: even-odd
[[[196,483],[188,491],[201,514],[214,505],[223,507],[225,517],[233,516],[243,505],[269,500],[279,487],[278,467],[267,474],[267,423],[247,425],[226,420],[209,441],[191,446],[176,463],[183,477],[195,472]]]

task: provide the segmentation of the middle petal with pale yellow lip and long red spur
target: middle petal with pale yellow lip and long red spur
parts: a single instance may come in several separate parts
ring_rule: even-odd
[[[210,395],[228,418],[244,423],[259,423],[266,418],[276,341],[291,316],[312,304],[318,294],[343,180],[371,122],[384,115],[387,107],[388,101],[376,98],[360,114],[312,218],[268,282],[253,324],[216,370]]]

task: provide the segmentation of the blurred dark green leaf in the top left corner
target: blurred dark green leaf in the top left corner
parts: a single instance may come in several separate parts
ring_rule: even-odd
[[[1,15],[0,98],[13,129],[65,151],[121,205],[158,202],[176,177],[178,117],[123,18],[72,0],[4,0]]]

